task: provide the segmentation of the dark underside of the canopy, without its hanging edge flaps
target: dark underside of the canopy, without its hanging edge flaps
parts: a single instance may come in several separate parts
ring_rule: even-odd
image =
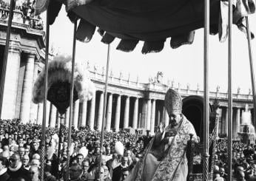
[[[211,24],[218,24],[220,1],[210,4]],[[106,0],[73,12],[118,38],[159,41],[203,27],[203,8],[203,0]]]

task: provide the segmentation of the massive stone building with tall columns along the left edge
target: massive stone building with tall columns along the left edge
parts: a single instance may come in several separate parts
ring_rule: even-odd
[[[4,70],[8,8],[6,1],[0,1],[0,73],[6,72],[1,119],[21,118],[28,122],[31,118],[36,118],[33,112],[30,115],[30,109],[36,110],[37,107],[31,102],[31,92],[38,69],[43,66],[41,58],[44,57],[44,52],[41,49],[44,48],[44,31],[41,18],[32,16],[29,13],[31,8],[21,7],[17,1],[13,13],[7,67]]]

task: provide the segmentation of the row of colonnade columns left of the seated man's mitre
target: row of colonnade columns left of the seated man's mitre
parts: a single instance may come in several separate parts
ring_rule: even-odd
[[[89,126],[92,130],[101,130],[103,115],[104,93],[96,91],[92,100],[79,102],[76,100],[73,105],[72,125],[75,129],[80,126]],[[47,103],[47,126],[57,126],[59,124],[59,114],[55,106]],[[42,103],[38,104],[38,117],[36,123],[42,121]],[[105,130],[118,132],[119,129],[144,129],[154,134],[155,126],[160,122],[169,123],[169,117],[164,109],[164,100],[136,98],[127,95],[107,94],[107,112]],[[63,123],[68,126],[70,109],[64,115]],[[58,122],[58,123],[57,123]]]

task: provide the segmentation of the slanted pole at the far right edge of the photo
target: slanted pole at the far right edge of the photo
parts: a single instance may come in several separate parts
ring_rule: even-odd
[[[253,120],[254,120],[254,126],[256,126],[255,70],[254,70],[254,66],[253,66],[251,30],[250,30],[250,27],[249,27],[249,18],[248,18],[248,16],[246,16],[246,32],[247,32],[247,42],[248,42],[248,49],[249,49],[249,61],[250,61],[250,70],[251,70],[251,81],[252,81]]]

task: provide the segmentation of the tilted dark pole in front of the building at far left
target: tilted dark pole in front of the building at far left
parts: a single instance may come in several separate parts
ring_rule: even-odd
[[[7,67],[7,59],[8,59],[8,52],[9,52],[9,45],[10,45],[10,33],[12,29],[12,21],[13,21],[13,9],[15,7],[16,1],[10,0],[10,12],[8,18],[8,25],[7,25],[7,33],[6,33],[6,43],[4,47],[4,60],[1,72],[1,86],[0,86],[0,118],[1,118],[1,108],[3,106],[3,99],[4,99],[4,83],[5,83],[5,75],[6,75],[6,67]]]

